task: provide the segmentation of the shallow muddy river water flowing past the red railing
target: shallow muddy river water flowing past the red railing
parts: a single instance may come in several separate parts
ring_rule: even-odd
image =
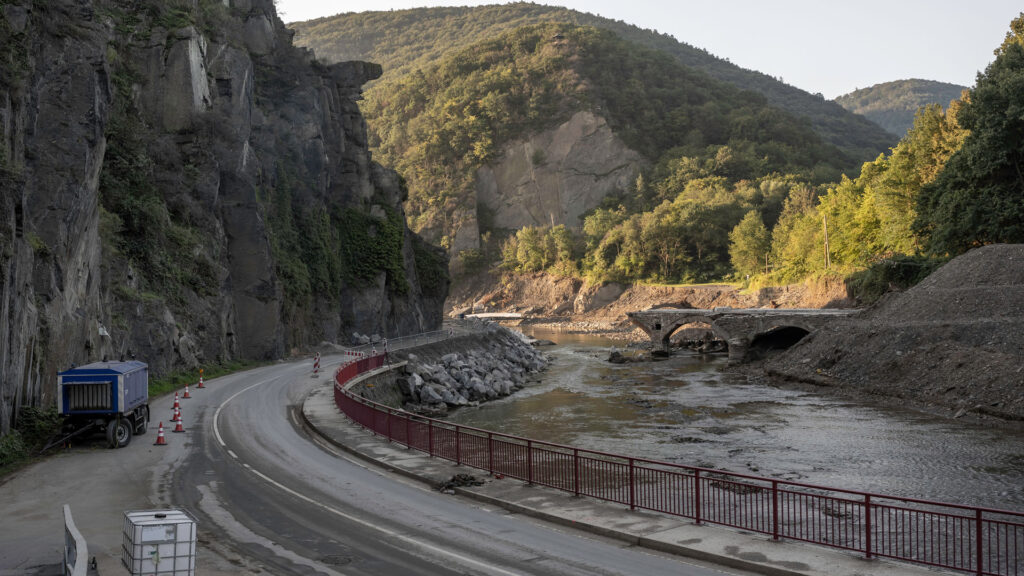
[[[1024,510],[1024,431],[746,383],[724,356],[606,362],[612,340],[558,343],[540,383],[450,419],[581,448],[797,482]],[[630,353],[626,353],[627,355]]]

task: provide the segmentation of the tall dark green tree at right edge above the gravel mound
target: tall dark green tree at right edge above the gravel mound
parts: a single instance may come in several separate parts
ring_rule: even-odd
[[[957,115],[964,146],[919,198],[915,229],[937,254],[1024,242],[1024,13]]]

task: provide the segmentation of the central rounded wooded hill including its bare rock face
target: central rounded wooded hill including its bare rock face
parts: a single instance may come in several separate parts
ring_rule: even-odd
[[[600,119],[590,122],[591,136],[603,122],[609,137],[626,146],[603,157],[598,164],[605,166],[590,168],[584,188],[639,154],[618,188],[607,191],[612,196],[635,189],[642,166],[683,159],[687,166],[714,164],[708,175],[728,182],[767,174],[824,182],[849,167],[848,158],[806,121],[766,100],[607,30],[547,24],[503,33],[382,82],[367,93],[364,110],[378,158],[407,179],[414,230],[466,259],[497,254],[496,241],[524,225],[580,228],[579,217],[570,216],[600,204],[601,197],[591,197],[574,211],[520,206],[521,189],[538,179],[536,173],[565,163],[562,149],[604,148],[584,135],[552,136],[550,142],[537,137],[573,132],[572,126],[590,122],[582,118]],[[529,154],[519,154],[523,149]],[[581,162],[569,164],[564,171],[584,169]],[[693,170],[694,177],[701,170]],[[511,177],[503,178],[504,172]],[[688,179],[680,178],[635,207],[674,198]],[[492,180],[497,190],[488,192]],[[542,183],[526,203],[544,204],[572,186],[567,177]],[[727,235],[735,222],[726,220],[716,225]],[[725,265],[727,260],[725,253]],[[703,258],[700,268],[720,270],[722,263]]]

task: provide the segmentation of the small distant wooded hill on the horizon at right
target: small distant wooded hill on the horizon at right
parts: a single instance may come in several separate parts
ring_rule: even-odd
[[[902,136],[913,126],[918,109],[931,104],[945,107],[958,99],[967,86],[934,80],[896,80],[854,90],[836,98],[843,108],[865,116],[893,134]]]

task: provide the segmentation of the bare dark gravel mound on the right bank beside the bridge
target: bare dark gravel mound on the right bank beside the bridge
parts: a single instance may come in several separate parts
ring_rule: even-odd
[[[1024,245],[963,254],[766,362],[768,374],[1024,420]]]

